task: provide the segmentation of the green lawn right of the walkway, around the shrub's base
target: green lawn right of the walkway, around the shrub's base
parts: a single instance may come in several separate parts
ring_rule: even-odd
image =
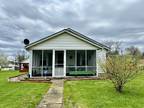
[[[144,74],[127,83],[122,94],[109,80],[66,81],[65,108],[144,108]]]

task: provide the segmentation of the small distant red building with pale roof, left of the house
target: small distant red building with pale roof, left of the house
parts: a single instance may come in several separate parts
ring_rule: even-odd
[[[29,59],[25,59],[20,62],[19,71],[20,72],[28,72],[29,71]]]

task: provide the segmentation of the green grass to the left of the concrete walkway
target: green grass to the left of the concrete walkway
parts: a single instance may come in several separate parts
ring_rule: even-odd
[[[8,77],[19,72],[0,72],[0,108],[35,108],[50,84],[10,83]]]

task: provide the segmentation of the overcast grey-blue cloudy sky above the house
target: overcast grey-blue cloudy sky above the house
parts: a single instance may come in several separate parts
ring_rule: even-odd
[[[14,55],[23,39],[72,28],[97,41],[123,41],[144,51],[144,0],[0,0],[0,51]]]

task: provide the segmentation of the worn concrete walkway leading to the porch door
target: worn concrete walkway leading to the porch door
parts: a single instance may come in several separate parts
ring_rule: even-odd
[[[41,100],[37,108],[62,108],[63,107],[64,80],[52,80],[52,86]]]

